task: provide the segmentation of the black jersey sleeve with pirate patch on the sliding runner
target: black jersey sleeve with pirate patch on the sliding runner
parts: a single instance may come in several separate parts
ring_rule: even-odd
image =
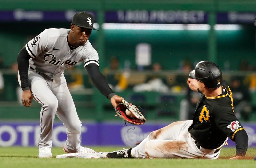
[[[235,134],[240,130],[244,130],[244,128],[233,111],[228,110],[226,107],[220,107],[220,109],[215,113],[216,126],[234,141]]]

